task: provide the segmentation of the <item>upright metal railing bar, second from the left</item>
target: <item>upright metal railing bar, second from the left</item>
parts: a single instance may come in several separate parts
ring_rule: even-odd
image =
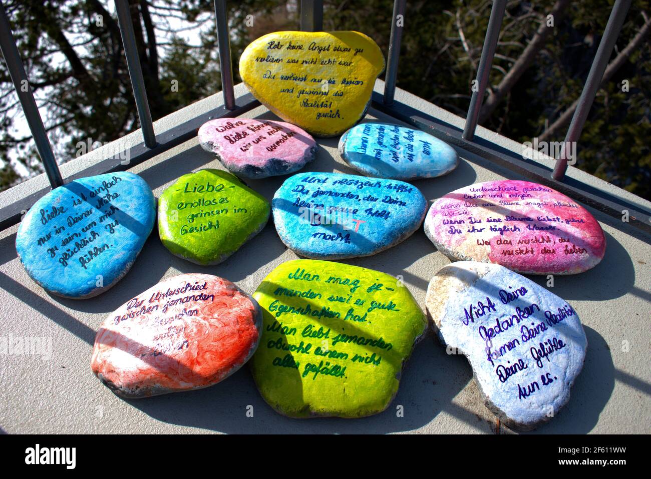
[[[140,57],[135,46],[135,35],[133,34],[133,23],[128,0],[115,0],[115,10],[118,14],[118,25],[120,26],[120,35],[122,36],[122,45],[124,46],[124,56],[126,57],[126,65],[129,70],[133,96],[135,98],[135,107],[138,111],[143,138],[145,139],[146,146],[154,148],[156,146],[156,135],[154,134],[152,113],[149,111],[149,102],[147,101],[147,90],[145,89],[143,70],[140,66]]]

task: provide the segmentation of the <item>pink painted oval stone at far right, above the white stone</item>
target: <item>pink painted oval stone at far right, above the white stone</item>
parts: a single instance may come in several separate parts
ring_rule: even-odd
[[[497,263],[519,273],[572,275],[605,253],[602,227],[571,198],[536,183],[466,186],[437,199],[425,233],[453,260]]]

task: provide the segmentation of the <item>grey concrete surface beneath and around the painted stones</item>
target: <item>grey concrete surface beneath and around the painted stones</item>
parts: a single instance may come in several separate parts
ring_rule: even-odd
[[[382,89],[378,81],[376,89]],[[243,94],[242,85],[236,96]],[[402,90],[396,100],[408,103],[450,124],[463,119]],[[208,111],[221,103],[221,94],[206,98],[156,122],[156,131]],[[273,118],[264,107],[248,117]],[[391,120],[370,111],[368,118]],[[120,142],[137,143],[139,132]],[[477,135],[514,152],[521,144],[479,128]],[[340,159],[338,139],[320,139],[318,156],[305,171],[354,173]],[[113,150],[115,151],[115,150]],[[96,150],[66,163],[64,176],[102,155]],[[419,180],[432,201],[464,185],[503,178],[520,179],[460,151],[456,171],[442,178]],[[549,159],[551,161],[551,159]],[[141,174],[158,197],[175,178],[221,164],[204,152],[197,139],[132,169]],[[647,210],[651,204],[613,185],[570,167],[568,174],[609,191]],[[271,198],[283,177],[249,181]],[[0,195],[0,204],[44,182],[42,176]],[[557,417],[534,433],[650,433],[651,432],[651,238],[630,226],[590,210],[607,237],[602,263],[581,275],[556,277],[553,292],[570,301],[585,327],[589,348],[583,372],[572,398]],[[273,223],[223,264],[200,267],[170,254],[156,230],[132,270],[99,297],[74,301],[51,297],[25,273],[14,247],[14,226],[0,232],[0,336],[41,336],[51,339],[51,357],[0,355],[0,428],[8,433],[495,433],[495,417],[480,400],[471,368],[464,357],[447,355],[429,333],[406,366],[400,390],[387,411],[369,418],[296,420],[282,417],[264,403],[245,367],[222,383],[195,392],[169,394],[145,400],[122,400],[90,372],[95,331],[104,318],[133,295],[179,273],[193,271],[219,275],[246,292],[281,262],[297,258],[284,247]],[[402,275],[415,299],[424,307],[428,281],[449,263],[424,232],[376,256],[346,263]],[[545,284],[546,279],[532,277]],[[254,415],[247,417],[247,406]],[[396,417],[396,406],[404,417]],[[500,433],[510,433],[505,428]]]

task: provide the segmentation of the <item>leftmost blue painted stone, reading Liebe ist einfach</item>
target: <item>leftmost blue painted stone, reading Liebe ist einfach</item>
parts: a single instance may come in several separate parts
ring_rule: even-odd
[[[137,174],[81,178],[35,203],[18,228],[16,251],[45,290],[92,297],[126,275],[155,218],[154,195]]]

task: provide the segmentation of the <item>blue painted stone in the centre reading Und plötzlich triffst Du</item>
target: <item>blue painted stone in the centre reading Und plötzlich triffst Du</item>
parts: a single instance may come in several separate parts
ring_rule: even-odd
[[[354,174],[290,176],[271,202],[283,243],[314,259],[368,256],[419,228],[427,202],[413,185]]]

